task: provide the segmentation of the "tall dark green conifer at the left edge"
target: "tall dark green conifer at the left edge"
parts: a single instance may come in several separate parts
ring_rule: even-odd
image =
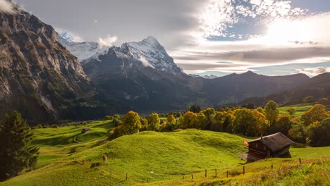
[[[0,180],[37,165],[39,148],[31,145],[33,133],[20,113],[14,111],[0,123]]]

